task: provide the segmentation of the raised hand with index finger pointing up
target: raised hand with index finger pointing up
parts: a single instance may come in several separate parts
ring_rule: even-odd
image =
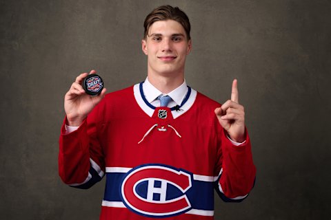
[[[245,140],[245,111],[239,104],[237,79],[233,80],[231,100],[227,100],[221,107],[215,109],[219,124],[228,131],[231,140],[243,142]]]

